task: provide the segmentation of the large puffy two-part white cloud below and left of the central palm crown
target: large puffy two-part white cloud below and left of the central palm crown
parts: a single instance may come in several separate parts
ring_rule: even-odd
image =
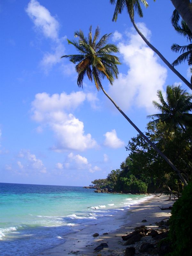
[[[56,151],[75,149],[84,151],[97,147],[91,134],[85,134],[84,123],[70,113],[86,99],[84,92],[65,92],[49,94],[43,92],[36,94],[32,102],[32,118],[44,125],[48,125],[56,138]]]

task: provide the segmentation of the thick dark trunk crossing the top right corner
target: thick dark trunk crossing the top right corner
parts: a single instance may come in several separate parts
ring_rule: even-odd
[[[187,23],[192,32],[192,4],[189,0],[171,0],[175,9],[179,12],[182,19]]]

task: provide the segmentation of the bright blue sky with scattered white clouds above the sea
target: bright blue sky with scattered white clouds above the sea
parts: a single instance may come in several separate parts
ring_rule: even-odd
[[[186,44],[170,23],[171,1],[148,1],[144,18],[135,17],[148,40],[172,62],[173,43]],[[167,84],[179,84],[164,63],[140,39],[127,13],[112,22],[115,6],[97,1],[15,1],[0,3],[1,96],[0,181],[89,185],[119,167],[125,146],[137,132],[95,85],[76,84],[73,54],[66,38],[99,25],[112,33],[122,62],[119,78],[103,86],[132,121],[145,131],[152,100]],[[178,71],[189,79],[188,66]],[[189,79],[190,80],[190,79]],[[187,89],[181,83],[183,88]]]

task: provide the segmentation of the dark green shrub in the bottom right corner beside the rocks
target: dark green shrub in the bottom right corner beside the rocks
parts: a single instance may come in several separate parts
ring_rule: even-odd
[[[192,255],[192,182],[186,186],[182,196],[174,203],[170,218],[169,238],[173,252],[169,255]]]

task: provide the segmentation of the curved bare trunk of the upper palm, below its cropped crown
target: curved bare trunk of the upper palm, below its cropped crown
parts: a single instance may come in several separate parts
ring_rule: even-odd
[[[163,60],[163,62],[167,65],[167,67],[169,67],[172,72],[175,73],[175,75],[177,75],[182,81],[183,83],[185,83],[191,90],[192,90],[192,85],[187,81],[187,79],[185,79],[184,76],[182,76],[170,63],[168,60],[166,60],[164,58],[164,56],[152,45],[149,43],[149,41],[147,40],[147,38],[141,33],[141,31],[139,30],[139,28],[137,27],[137,25],[135,24],[134,19],[130,16],[131,22],[133,24],[133,27],[135,28],[135,30],[137,31],[137,33],[141,36],[141,38],[143,39],[143,41],[151,48],[151,50],[153,50],[160,58],[161,60]]]

